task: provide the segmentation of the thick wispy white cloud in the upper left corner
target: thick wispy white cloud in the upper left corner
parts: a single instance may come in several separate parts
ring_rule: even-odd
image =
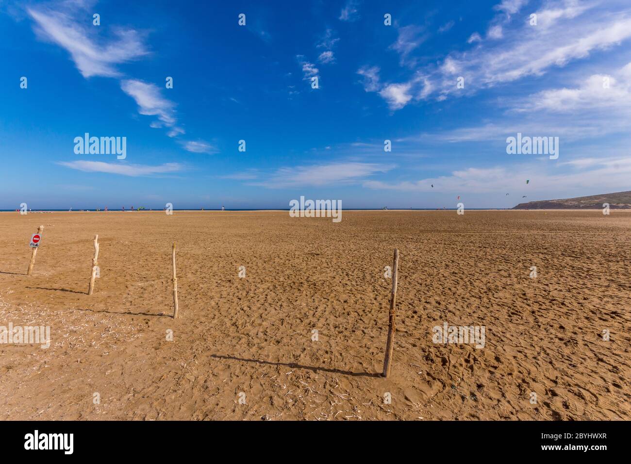
[[[61,4],[60,8],[71,6]],[[92,76],[116,77],[117,64],[132,61],[148,54],[139,33],[133,29],[117,28],[114,39],[97,43],[96,32],[91,22],[74,18],[71,8],[55,11],[49,8],[28,8],[28,15],[35,21],[35,32],[70,53],[74,64],[85,78]]]

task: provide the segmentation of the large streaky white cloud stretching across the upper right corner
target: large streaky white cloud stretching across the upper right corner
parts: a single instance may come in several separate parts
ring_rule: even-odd
[[[631,38],[631,9],[623,3],[615,3],[611,9],[602,8],[603,2],[598,0],[550,1],[534,11],[538,18],[536,26],[517,15],[510,17],[523,4],[514,0],[498,5],[502,13],[490,22],[487,40],[473,33],[468,40],[473,44],[471,50],[452,52],[437,66],[415,66],[410,79],[389,84],[396,85],[395,90],[406,89],[405,95],[413,98],[393,100],[392,92],[384,92],[383,88],[375,92],[389,104],[396,103],[390,105],[391,109],[400,109],[411,101],[432,95],[444,100],[454,92],[462,92],[457,89],[454,76],[464,76],[467,92],[476,92],[527,76],[541,76],[552,68],[566,66]],[[401,64],[414,62],[410,58],[416,41],[406,37],[407,33],[400,34],[397,43],[392,45],[401,54]]]

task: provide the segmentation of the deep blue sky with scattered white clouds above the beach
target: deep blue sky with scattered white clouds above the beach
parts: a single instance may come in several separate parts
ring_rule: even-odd
[[[628,1],[218,3],[0,0],[0,208],[631,189]],[[126,158],[74,153],[84,133]],[[558,159],[507,154],[517,133],[558,137]]]

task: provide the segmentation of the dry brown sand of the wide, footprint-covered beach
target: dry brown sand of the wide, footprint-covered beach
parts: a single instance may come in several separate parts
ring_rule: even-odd
[[[630,420],[630,232],[631,211],[0,213],[0,326],[52,337],[0,344],[0,419]],[[433,343],[445,321],[485,347]]]

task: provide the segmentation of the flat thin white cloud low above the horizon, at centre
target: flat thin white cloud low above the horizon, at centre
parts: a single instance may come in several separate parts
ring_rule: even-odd
[[[283,167],[276,170],[264,182],[252,185],[268,188],[291,188],[350,184],[377,172],[387,172],[393,165],[360,162],[338,162],[310,166]]]

